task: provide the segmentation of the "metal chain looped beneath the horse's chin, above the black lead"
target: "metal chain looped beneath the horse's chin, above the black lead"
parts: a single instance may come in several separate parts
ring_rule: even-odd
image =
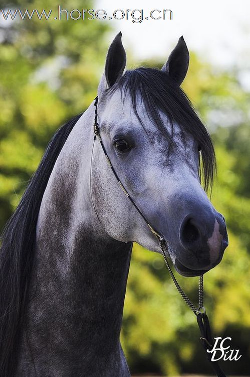
[[[181,295],[181,297],[183,298],[183,300],[185,301],[185,303],[188,305],[188,307],[194,312],[195,315],[201,313],[200,310],[202,309],[203,310],[203,313],[205,313],[205,308],[203,307],[203,275],[200,275],[199,277],[199,308],[196,309],[195,306],[193,305],[193,303],[191,302],[191,300],[189,300],[189,298],[187,297],[187,295],[185,294],[185,292],[182,290],[182,288],[180,287],[178,281],[176,280],[174,274],[173,274],[173,271],[168,263],[168,260],[167,260],[167,256],[166,256],[166,251],[164,250],[164,247],[166,248],[167,250],[167,245],[164,243],[164,240],[163,239],[160,239],[160,248],[161,248],[161,252],[162,252],[162,255],[163,255],[163,258],[165,260],[165,263],[166,263],[166,266],[167,266],[167,269],[168,269],[168,272],[174,282],[174,285],[175,287],[177,288],[177,291],[179,292],[179,294]]]

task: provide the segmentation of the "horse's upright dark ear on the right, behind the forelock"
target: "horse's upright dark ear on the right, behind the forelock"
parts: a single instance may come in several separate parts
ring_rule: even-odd
[[[167,62],[161,68],[165,71],[178,85],[184,80],[189,64],[189,52],[183,37],[171,52]]]

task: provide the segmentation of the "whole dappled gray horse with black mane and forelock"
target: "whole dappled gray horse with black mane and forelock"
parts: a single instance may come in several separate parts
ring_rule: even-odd
[[[145,219],[185,276],[213,268],[227,246],[224,219],[205,194],[213,146],[179,87],[184,39],[161,71],[123,74],[125,64],[119,33],[97,108],[56,133],[4,231],[1,377],[130,376],[119,336],[132,244],[161,251]],[[109,159],[94,140],[95,110]]]

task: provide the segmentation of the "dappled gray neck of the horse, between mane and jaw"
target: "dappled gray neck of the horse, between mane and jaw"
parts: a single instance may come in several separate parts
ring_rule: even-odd
[[[131,244],[110,238],[93,209],[92,113],[87,110],[66,141],[39,213],[27,333],[35,365],[46,375],[60,367],[72,373],[72,365],[76,376],[87,370],[97,375],[93,359],[100,371],[112,370],[112,362],[118,365],[122,357],[119,335]]]

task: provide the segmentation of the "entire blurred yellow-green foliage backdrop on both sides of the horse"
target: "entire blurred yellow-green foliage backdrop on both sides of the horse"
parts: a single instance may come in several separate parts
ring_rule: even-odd
[[[53,8],[49,0],[42,5],[38,0],[13,4],[22,9]],[[84,8],[90,5],[85,2]],[[64,8],[72,9],[72,2],[65,0]],[[82,8],[80,0],[74,1],[74,8]],[[1,29],[0,228],[18,204],[56,129],[85,110],[95,97],[107,48],[106,25],[34,18]],[[218,179],[212,202],[224,214],[229,229],[230,245],[223,261],[204,276],[206,308],[215,333],[231,336],[236,329],[236,346],[241,349],[247,344],[250,327],[246,281],[250,251],[249,93],[242,90],[236,74],[218,72],[194,54],[183,88],[213,135]],[[196,303],[198,279],[178,278]],[[132,370],[168,375],[204,372],[198,337],[195,317],[178,296],[161,255],[135,245],[121,334]],[[246,362],[245,354],[241,369],[231,363],[230,373],[243,373]]]

